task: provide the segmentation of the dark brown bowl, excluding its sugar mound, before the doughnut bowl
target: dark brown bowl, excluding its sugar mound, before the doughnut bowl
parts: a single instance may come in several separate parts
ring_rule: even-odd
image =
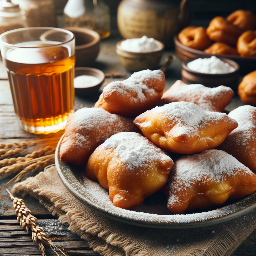
[[[226,58],[219,58],[234,67],[234,72],[226,74],[205,74],[193,71],[187,67],[187,64],[195,59],[197,58],[189,59],[182,62],[181,77],[183,82],[187,84],[202,84],[208,87],[217,87],[219,85],[232,87],[237,84],[240,67],[235,61]]]

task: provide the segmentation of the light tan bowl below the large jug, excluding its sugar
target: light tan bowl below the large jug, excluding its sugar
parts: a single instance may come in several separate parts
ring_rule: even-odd
[[[145,69],[153,69],[158,65],[164,52],[164,44],[162,42],[156,40],[161,47],[160,50],[129,52],[120,48],[121,42],[124,40],[116,43],[116,53],[121,64],[129,71],[137,72]]]

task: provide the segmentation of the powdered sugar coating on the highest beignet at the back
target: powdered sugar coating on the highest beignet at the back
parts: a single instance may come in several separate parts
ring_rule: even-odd
[[[113,92],[122,97],[131,97],[131,102],[145,102],[147,97],[156,94],[153,88],[148,88],[146,82],[154,79],[155,81],[165,82],[165,76],[161,70],[142,70],[133,73],[128,79],[124,81],[114,81],[109,83],[103,89],[103,95],[110,96]]]

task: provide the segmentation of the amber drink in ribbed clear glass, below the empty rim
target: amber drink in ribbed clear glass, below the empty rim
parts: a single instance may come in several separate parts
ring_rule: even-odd
[[[52,43],[27,42],[27,47]],[[68,46],[67,46],[68,47]],[[30,48],[31,49],[31,48]],[[74,110],[75,55],[64,46],[7,51],[3,58],[11,86],[15,113],[25,131],[35,134],[65,128]]]

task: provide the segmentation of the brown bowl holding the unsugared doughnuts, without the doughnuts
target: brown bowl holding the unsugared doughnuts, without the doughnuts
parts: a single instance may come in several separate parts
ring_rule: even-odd
[[[240,66],[240,73],[242,74],[248,74],[254,70],[256,70],[256,57],[248,57],[248,58],[243,58],[240,56],[236,55],[227,55],[227,54],[208,54],[205,53],[204,51],[199,51],[195,50],[192,48],[189,48],[178,40],[177,36],[174,36],[174,48],[176,51],[176,54],[183,60],[188,60],[191,58],[210,58],[212,55],[215,55],[218,58],[228,58],[236,63],[239,64]]]

